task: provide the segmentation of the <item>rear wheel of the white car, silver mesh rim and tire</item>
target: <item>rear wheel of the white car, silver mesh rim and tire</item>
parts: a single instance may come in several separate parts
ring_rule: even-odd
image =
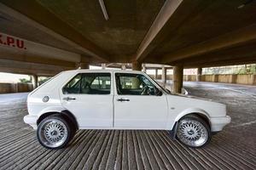
[[[47,116],[38,125],[38,142],[47,149],[61,149],[73,138],[72,128],[60,115]]]

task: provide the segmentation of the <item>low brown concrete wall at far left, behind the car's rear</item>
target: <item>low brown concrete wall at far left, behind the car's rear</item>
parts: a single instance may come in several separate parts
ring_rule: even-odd
[[[32,83],[0,83],[0,94],[31,92]]]

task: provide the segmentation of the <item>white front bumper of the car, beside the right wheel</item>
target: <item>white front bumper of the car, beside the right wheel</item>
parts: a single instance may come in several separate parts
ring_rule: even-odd
[[[224,128],[224,126],[229,124],[231,122],[231,117],[230,116],[211,117],[210,122],[211,122],[211,130],[214,133],[214,132],[221,131]]]

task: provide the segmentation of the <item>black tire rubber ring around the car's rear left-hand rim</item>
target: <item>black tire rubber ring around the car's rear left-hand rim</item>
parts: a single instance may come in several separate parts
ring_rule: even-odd
[[[48,145],[45,145],[44,142],[41,141],[41,139],[39,137],[39,129],[42,128],[42,126],[44,125],[44,122],[47,122],[49,119],[56,119],[58,121],[61,121],[67,127],[67,139],[65,140],[65,142],[63,144],[61,144],[58,147],[49,147]],[[44,148],[47,148],[50,150],[59,150],[59,149],[65,147],[69,143],[69,141],[72,139],[72,128],[70,127],[69,123],[62,116],[48,116],[48,117],[44,118],[44,120],[42,122],[39,123],[38,129],[37,129],[37,138],[38,138],[38,142],[41,145],[43,145]]]

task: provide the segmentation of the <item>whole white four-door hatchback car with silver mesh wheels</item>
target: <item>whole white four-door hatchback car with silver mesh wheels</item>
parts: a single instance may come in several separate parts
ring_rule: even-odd
[[[27,108],[24,122],[49,149],[67,145],[78,129],[168,130],[198,148],[230,123],[225,105],[169,94],[142,71],[63,71],[28,95]]]

